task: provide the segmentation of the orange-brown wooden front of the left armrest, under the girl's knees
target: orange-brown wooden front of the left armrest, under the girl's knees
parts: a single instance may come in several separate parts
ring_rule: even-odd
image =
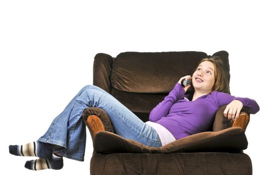
[[[98,131],[105,130],[102,120],[97,115],[89,115],[86,122],[89,125],[93,136]]]

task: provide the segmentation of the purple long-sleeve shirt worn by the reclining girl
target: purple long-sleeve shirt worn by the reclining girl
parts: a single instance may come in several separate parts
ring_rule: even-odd
[[[194,101],[185,98],[185,90],[180,83],[176,83],[174,89],[153,108],[149,120],[159,123],[167,128],[176,139],[204,132],[209,129],[215,119],[217,110],[238,99],[243,106],[250,108],[251,113],[260,110],[254,99],[235,97],[228,93],[213,91],[210,94],[200,96]]]

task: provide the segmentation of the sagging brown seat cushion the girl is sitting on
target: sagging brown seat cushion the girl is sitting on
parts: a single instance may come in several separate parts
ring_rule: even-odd
[[[94,150],[101,153],[241,152],[247,146],[241,127],[197,133],[161,147],[146,146],[108,131],[97,132],[93,140]]]

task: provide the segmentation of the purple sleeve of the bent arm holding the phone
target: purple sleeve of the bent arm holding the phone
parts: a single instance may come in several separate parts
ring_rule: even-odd
[[[175,87],[170,93],[152,109],[149,115],[150,121],[158,121],[163,116],[167,116],[171,106],[178,100],[185,97],[185,90],[180,83],[176,83]]]

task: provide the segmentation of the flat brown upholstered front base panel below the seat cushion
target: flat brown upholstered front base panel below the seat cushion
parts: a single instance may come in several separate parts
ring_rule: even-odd
[[[245,153],[96,153],[90,174],[249,175],[252,163]]]

